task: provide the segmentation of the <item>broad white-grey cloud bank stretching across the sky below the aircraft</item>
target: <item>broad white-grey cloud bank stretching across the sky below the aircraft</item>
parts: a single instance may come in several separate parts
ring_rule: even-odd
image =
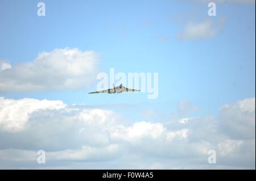
[[[1,168],[41,167],[36,150],[46,151],[44,166],[51,168],[255,168],[255,134],[236,138],[223,132],[226,125],[239,127],[237,121],[255,129],[247,123],[250,119],[240,119],[255,117],[255,98],[225,104],[218,117],[172,123],[130,123],[113,111],[59,100],[1,98],[0,105]],[[234,121],[221,124],[223,113]],[[217,152],[215,166],[207,162],[212,149]]]

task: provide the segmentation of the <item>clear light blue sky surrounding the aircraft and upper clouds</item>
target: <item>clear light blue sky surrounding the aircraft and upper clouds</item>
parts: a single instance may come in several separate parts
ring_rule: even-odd
[[[0,1],[1,61],[18,66],[56,48],[93,50],[100,71],[158,73],[158,98],[87,94],[96,90],[96,77],[81,89],[0,90],[0,96],[103,107],[133,121],[145,110],[170,120],[181,100],[198,108],[184,116],[206,116],[217,115],[223,104],[255,98],[255,1],[217,1],[217,16],[211,17],[200,1],[44,0],[46,16],[36,14],[38,2]],[[211,37],[182,38],[191,22],[209,22],[209,30],[216,31]]]

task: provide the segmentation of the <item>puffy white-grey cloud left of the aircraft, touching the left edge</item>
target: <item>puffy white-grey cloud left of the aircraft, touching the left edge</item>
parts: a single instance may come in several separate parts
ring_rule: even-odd
[[[54,49],[22,64],[0,64],[0,92],[79,89],[94,81],[97,53],[76,48]]]

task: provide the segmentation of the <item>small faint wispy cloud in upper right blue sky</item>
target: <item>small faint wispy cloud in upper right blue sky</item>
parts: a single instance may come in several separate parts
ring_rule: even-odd
[[[203,22],[190,21],[185,25],[184,31],[180,35],[182,40],[211,39],[217,35],[223,26],[224,20],[221,20],[217,26],[214,26],[213,20],[206,19]]]

